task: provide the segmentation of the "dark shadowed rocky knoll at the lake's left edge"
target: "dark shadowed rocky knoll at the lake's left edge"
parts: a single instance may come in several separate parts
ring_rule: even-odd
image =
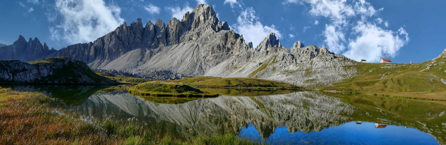
[[[0,60],[2,83],[114,83],[96,75],[85,62],[54,57],[34,62]]]

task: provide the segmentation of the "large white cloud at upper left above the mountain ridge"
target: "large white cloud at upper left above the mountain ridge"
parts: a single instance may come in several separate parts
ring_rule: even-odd
[[[50,27],[53,40],[94,41],[124,22],[120,17],[121,9],[106,5],[103,0],[56,0],[55,9],[62,21]]]

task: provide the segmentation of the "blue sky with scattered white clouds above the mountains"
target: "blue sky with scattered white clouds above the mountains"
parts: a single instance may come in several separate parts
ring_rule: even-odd
[[[59,50],[137,18],[181,20],[197,4],[212,5],[254,46],[273,32],[287,48],[301,41],[356,61],[396,63],[431,60],[446,48],[445,0],[3,0],[0,43],[22,35]]]

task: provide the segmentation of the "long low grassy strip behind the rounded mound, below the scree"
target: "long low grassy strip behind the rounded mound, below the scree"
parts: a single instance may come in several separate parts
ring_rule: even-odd
[[[228,87],[228,88],[253,88],[253,89],[301,89],[289,83],[277,82],[266,79],[254,78],[219,78],[219,77],[193,77],[168,82],[184,83],[197,87]]]

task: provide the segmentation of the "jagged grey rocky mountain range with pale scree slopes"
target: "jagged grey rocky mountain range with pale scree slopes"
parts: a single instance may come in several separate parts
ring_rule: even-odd
[[[253,48],[243,36],[219,21],[211,5],[199,4],[181,20],[167,26],[161,19],[141,19],[120,25],[93,42],[47,50],[36,39],[22,37],[0,48],[0,59],[36,60],[42,56],[66,56],[94,69],[119,70],[138,77],[178,79],[192,76],[254,77],[301,86],[325,86],[356,74],[355,61],[330,53],[325,47],[282,47],[274,33]],[[26,52],[15,54],[16,52]],[[46,55],[47,54],[47,55]]]

